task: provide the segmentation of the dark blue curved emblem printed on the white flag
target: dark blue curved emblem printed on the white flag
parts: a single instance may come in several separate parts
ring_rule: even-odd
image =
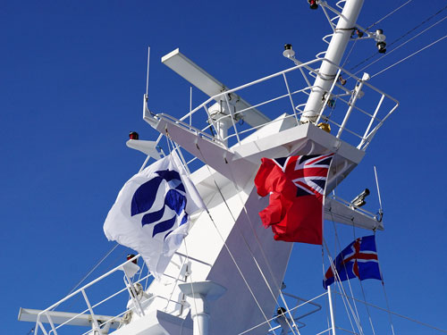
[[[146,213],[141,219],[141,224],[155,224],[152,232],[152,237],[158,233],[166,232],[164,239],[173,232],[173,226],[181,216],[179,227],[188,222],[188,214],[185,212],[186,208],[186,191],[181,182],[179,172],[174,170],[157,171],[156,177],[148,180],[133,194],[131,201],[131,216]],[[164,195],[164,205],[161,209],[153,209],[152,206],[156,201],[156,194],[162,182],[168,183],[170,189]],[[173,217],[159,222],[162,219],[166,206],[173,211]]]

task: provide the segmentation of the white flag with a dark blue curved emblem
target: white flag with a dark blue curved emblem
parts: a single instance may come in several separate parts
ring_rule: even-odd
[[[105,219],[105,236],[138,251],[160,280],[188,234],[189,215],[204,208],[178,156],[167,155],[124,184]]]

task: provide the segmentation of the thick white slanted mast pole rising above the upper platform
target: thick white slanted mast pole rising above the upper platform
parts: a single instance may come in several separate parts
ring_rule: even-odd
[[[364,0],[347,0],[343,7],[342,15],[340,16],[337,26],[333,32],[333,38],[327,47],[325,59],[332,62],[323,61],[316,76],[314,87],[308,96],[308,102],[304,108],[304,113],[301,115],[300,121],[302,123],[315,122],[320,112],[324,99],[323,96],[336,80],[335,75],[337,68],[342,61],[342,55],[350,40],[350,35],[354,29],[358,13],[360,13]],[[322,4],[324,5],[324,4]],[[335,65],[333,65],[335,64]]]

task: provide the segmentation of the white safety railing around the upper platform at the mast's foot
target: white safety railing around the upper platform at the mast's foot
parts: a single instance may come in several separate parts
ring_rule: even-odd
[[[310,86],[310,80],[321,76],[318,67],[322,62],[332,63],[325,58],[299,63],[290,69],[211,96],[180,119],[165,113],[147,114],[145,119],[173,122],[222,147],[240,145],[244,143],[244,138],[269,124],[286,122],[288,128],[300,124],[308,95],[311,90],[319,89]],[[315,123],[320,127],[323,123],[329,125],[325,129],[336,138],[366,150],[377,130],[399,103],[369,84],[367,74],[360,79],[341,67],[337,68],[335,76],[325,79],[331,80],[332,86],[324,94]],[[241,96],[251,105],[237,109]],[[252,121],[249,125],[245,119],[253,118],[247,115],[252,113],[256,117],[259,111],[272,121],[259,117],[260,121]]]

